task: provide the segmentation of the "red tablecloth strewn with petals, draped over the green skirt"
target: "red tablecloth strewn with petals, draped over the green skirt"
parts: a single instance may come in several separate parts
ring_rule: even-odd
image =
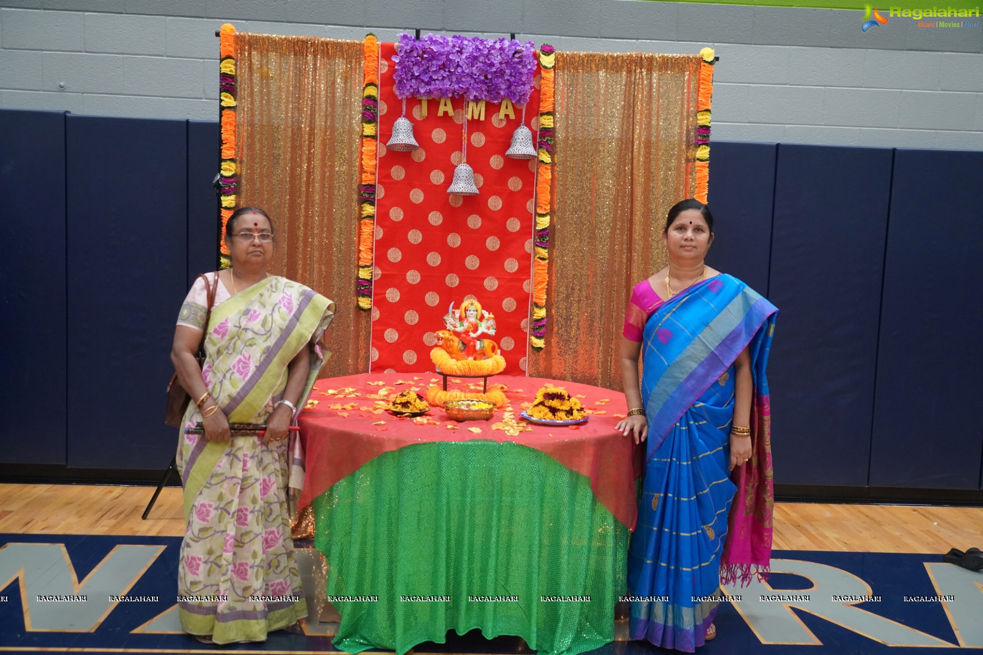
[[[390,396],[411,387],[418,387],[418,393],[426,396],[431,384],[439,384],[432,382],[434,379],[437,376],[433,373],[363,373],[318,380],[311,394],[311,400],[318,401],[318,406],[304,409],[299,416],[306,468],[301,507],[309,505],[335,482],[388,451],[435,441],[485,439],[535,448],[567,468],[590,477],[591,490],[598,500],[616,519],[634,529],[637,516],[634,479],[642,472],[644,450],[636,447],[630,437],[614,429],[614,424],[620,420],[615,414],[623,415],[626,412],[624,394],[573,382],[496,375],[489,380],[489,385],[506,386],[505,395],[512,402],[517,420],[521,420],[521,404],[532,402],[536,392],[545,384],[563,387],[571,396],[584,396],[580,399],[581,403],[595,411],[587,423],[577,426],[578,429],[530,423],[532,431],[521,432],[517,436],[492,430],[492,424],[501,420],[503,409],[495,411],[489,421],[459,423],[448,419],[443,409],[434,407],[427,417],[438,421],[436,425],[421,425],[409,418],[397,418],[388,411],[379,414],[372,412],[377,399],[368,396],[377,395],[383,387],[370,385],[370,382],[384,382],[385,386],[395,387],[396,391],[390,392]],[[399,381],[408,383],[396,384]],[[463,379],[461,384],[448,384],[447,388],[465,390],[467,382],[474,381]],[[340,398],[336,394],[327,394],[329,389],[346,388],[353,388],[355,391],[351,394],[357,396]],[[604,399],[609,402],[598,404]],[[339,404],[350,409],[330,409],[330,406]],[[385,424],[376,425],[378,421],[385,421]],[[448,425],[460,429],[448,429]],[[481,432],[469,431],[468,428],[472,427],[481,428]]]

